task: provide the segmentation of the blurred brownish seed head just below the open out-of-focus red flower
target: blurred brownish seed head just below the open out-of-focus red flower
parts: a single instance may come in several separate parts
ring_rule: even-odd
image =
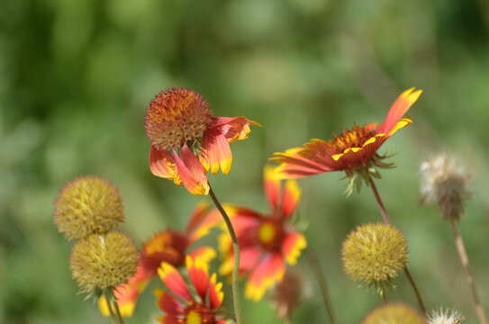
[[[276,284],[269,296],[276,309],[276,316],[280,319],[291,316],[310,291],[311,285],[303,273],[291,267],[287,268],[282,282]]]

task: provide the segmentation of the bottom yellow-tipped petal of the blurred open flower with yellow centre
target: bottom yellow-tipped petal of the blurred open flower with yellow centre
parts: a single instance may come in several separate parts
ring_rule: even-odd
[[[249,276],[245,288],[245,297],[258,302],[268,289],[282,280],[285,274],[285,264],[279,253],[264,257]]]

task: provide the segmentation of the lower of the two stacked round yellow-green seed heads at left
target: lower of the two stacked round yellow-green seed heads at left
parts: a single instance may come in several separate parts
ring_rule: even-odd
[[[92,234],[73,246],[69,269],[83,293],[105,293],[135,274],[139,255],[131,238],[118,231]]]

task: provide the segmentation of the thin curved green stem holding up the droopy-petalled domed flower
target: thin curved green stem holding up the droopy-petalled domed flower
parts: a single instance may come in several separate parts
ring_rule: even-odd
[[[222,208],[221,202],[215,196],[213,192],[213,187],[209,184],[209,194],[213,199],[214,205],[221,212],[222,219],[226,223],[228,231],[232,240],[232,249],[234,251],[234,266],[232,267],[232,277],[231,277],[231,286],[232,286],[232,299],[234,302],[234,313],[236,315],[236,323],[243,324],[243,317],[241,313],[241,302],[240,302],[240,286],[238,285],[238,272],[240,270],[240,246],[238,244],[238,238],[236,237],[236,233],[232,228],[231,220],[224,208]]]

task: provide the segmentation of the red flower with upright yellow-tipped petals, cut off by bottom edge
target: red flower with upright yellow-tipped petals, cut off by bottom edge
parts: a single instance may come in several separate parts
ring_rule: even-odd
[[[158,320],[163,324],[228,324],[217,310],[224,297],[222,283],[216,282],[216,275],[209,276],[209,266],[200,258],[186,257],[186,272],[193,288],[174,266],[163,262],[158,267],[158,275],[169,293],[156,290],[158,306],[166,315]],[[195,295],[191,293],[195,291]]]

